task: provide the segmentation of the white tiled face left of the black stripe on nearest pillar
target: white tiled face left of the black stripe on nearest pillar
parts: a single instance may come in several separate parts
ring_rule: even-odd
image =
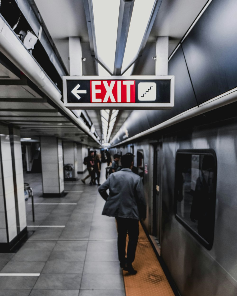
[[[6,213],[7,223],[8,223],[8,235],[9,241],[17,236],[17,224],[16,224],[16,209],[15,209],[15,194],[14,194],[14,184],[13,184],[13,172],[12,172],[12,155],[11,155],[11,145],[9,128],[7,126],[0,125],[1,134],[1,160],[2,160],[2,172],[1,181],[4,183],[4,193],[6,200]],[[2,187],[2,183],[1,183]],[[1,193],[1,192],[0,192]],[[2,197],[2,195],[1,195]],[[2,198],[1,198],[2,199]],[[1,201],[1,205],[2,205]],[[2,210],[2,207],[1,207]],[[6,225],[4,224],[4,215],[1,214],[1,222],[3,224],[1,227],[2,237],[0,242],[7,242],[4,235],[4,227],[6,231]]]

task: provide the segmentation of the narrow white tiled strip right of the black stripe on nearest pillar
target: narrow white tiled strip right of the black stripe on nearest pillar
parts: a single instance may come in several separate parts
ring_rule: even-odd
[[[13,129],[14,134],[14,157],[15,157],[15,173],[16,173],[16,189],[17,189],[17,202],[19,212],[20,231],[26,227],[26,211],[25,211],[25,193],[24,193],[24,178],[22,166],[22,153],[20,142],[20,130]]]

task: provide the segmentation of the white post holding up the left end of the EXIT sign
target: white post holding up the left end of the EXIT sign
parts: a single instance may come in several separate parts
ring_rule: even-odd
[[[82,75],[82,51],[80,37],[69,37],[70,75]]]

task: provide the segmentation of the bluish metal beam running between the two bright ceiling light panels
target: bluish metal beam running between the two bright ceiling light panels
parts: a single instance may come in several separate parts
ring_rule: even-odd
[[[133,6],[134,0],[120,0],[113,75],[121,75]]]

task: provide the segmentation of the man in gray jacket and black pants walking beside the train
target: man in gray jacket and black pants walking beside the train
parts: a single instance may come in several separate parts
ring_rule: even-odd
[[[133,157],[123,155],[121,163],[123,168],[111,174],[98,190],[106,200],[102,215],[113,216],[117,221],[120,266],[130,274],[136,274],[132,262],[139,235],[138,222],[139,219],[146,218],[146,202],[142,179],[131,170]],[[106,192],[107,189],[109,194]],[[127,232],[129,242],[126,253]]]

